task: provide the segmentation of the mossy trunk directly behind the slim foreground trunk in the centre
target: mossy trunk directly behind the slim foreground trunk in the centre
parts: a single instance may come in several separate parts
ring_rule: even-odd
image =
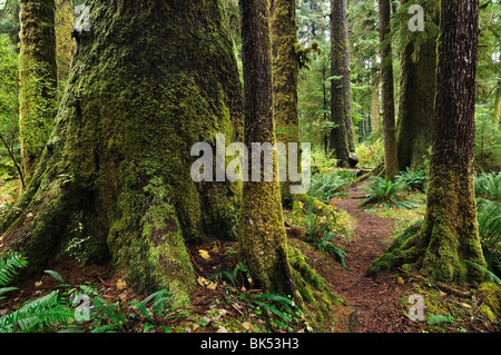
[[[297,23],[295,0],[271,1],[271,38],[273,71],[273,114],[276,126],[276,140],[296,144],[299,150],[299,111],[297,83],[299,65],[297,61]],[[301,158],[293,168],[301,172]],[[287,165],[283,167],[287,169]],[[281,184],[284,205],[291,205],[291,180]]]

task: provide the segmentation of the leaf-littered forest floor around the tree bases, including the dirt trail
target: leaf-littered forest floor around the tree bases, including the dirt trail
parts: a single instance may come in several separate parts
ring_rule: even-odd
[[[438,285],[394,270],[377,277],[366,277],[371,264],[391,245],[393,237],[409,225],[409,210],[362,209],[362,186],[345,190],[345,196],[328,204],[334,210],[344,210],[353,219],[350,238],[336,239],[346,252],[343,267],[331,254],[289,234],[289,244],[305,255],[308,264],[325,278],[331,290],[342,298],[332,309],[333,323],[326,323],[322,333],[493,333],[500,332],[500,322],[490,322],[480,312],[481,304],[471,298],[452,295]],[[423,203],[421,203],[423,210]],[[419,215],[419,213],[418,213]],[[189,254],[198,276],[191,306],[169,308],[158,321],[161,327],[153,331],[179,332],[307,332],[311,328],[294,305],[273,303],[258,289],[253,289],[237,260],[235,241],[217,241],[191,246]],[[204,253],[205,252],[205,253]],[[119,304],[120,312],[136,313],[136,295],[122,276],[107,266],[86,266],[81,260],[67,258],[48,266],[65,279],[65,287],[87,285],[106,299]],[[40,273],[8,294],[0,302],[0,317],[17,309],[29,299],[61,287],[47,273]],[[411,295],[424,300],[423,321],[411,321]],[[279,300],[279,299],[278,299]],[[131,322],[124,332],[144,332],[145,322]],[[111,321],[108,321],[111,323]],[[90,326],[91,322],[88,323]],[[95,326],[95,325],[94,325]],[[149,326],[149,325],[148,325]],[[151,331],[150,331],[151,332]]]

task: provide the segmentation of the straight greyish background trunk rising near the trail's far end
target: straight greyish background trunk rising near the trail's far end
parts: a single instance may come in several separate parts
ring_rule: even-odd
[[[338,166],[350,166],[350,152],[355,151],[352,125],[347,1],[331,1],[331,116],[336,127],[331,130],[330,147]]]

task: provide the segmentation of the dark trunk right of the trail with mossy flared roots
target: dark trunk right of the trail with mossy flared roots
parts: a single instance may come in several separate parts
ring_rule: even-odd
[[[473,184],[478,0],[442,0],[438,96],[424,225],[387,263],[414,264],[431,278],[451,283],[479,280],[471,263],[484,265],[477,224]]]

